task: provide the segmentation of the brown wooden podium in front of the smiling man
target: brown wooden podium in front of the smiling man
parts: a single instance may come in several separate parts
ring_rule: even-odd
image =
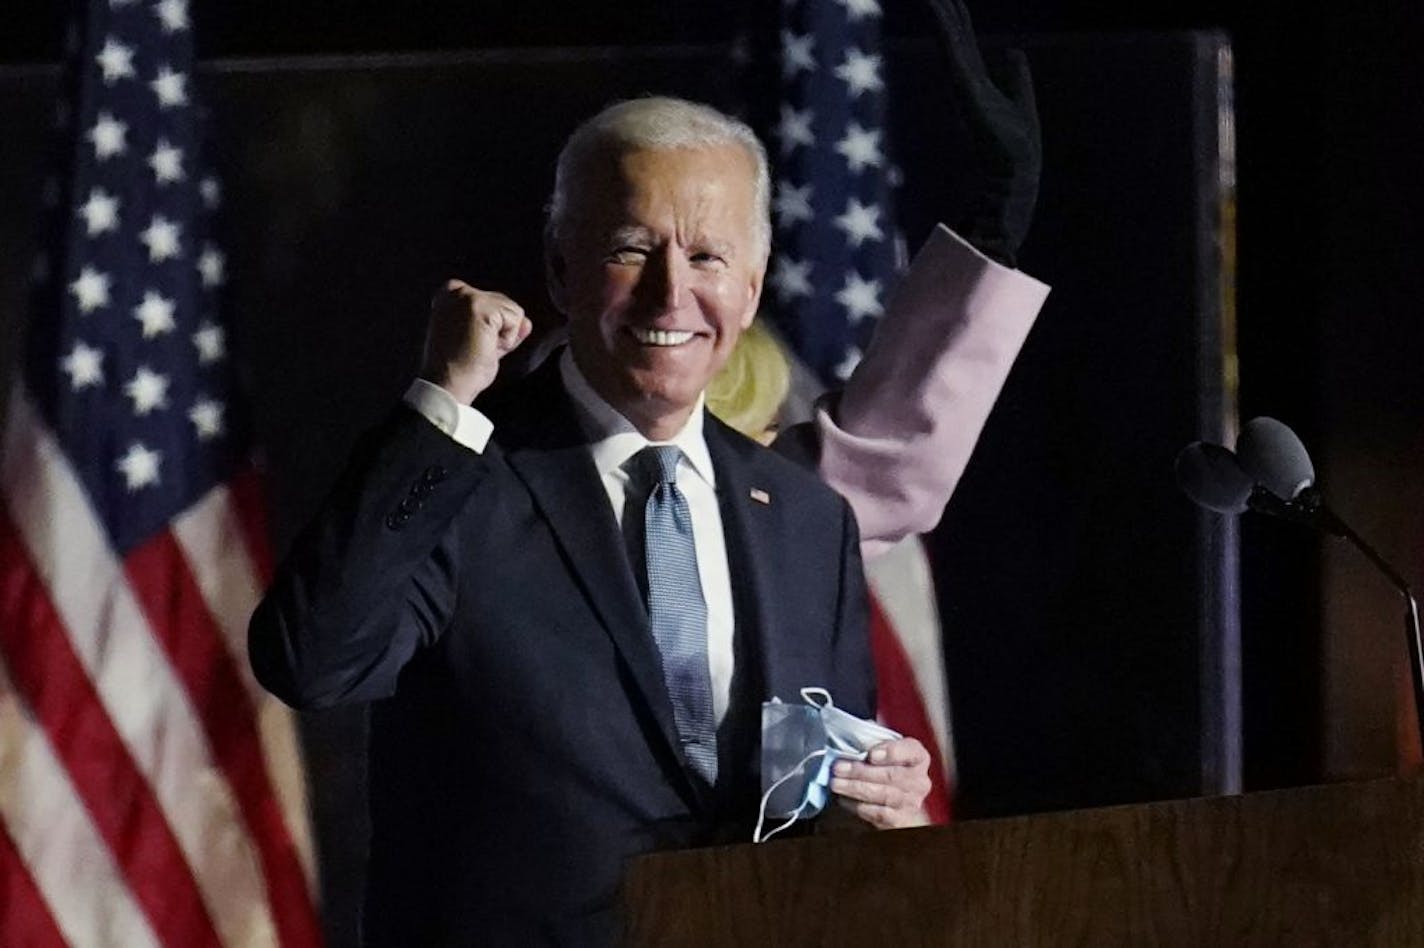
[[[642,857],[637,945],[1424,945],[1424,780]]]

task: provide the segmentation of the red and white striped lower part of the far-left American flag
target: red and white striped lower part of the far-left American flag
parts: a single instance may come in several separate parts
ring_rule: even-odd
[[[219,487],[120,561],[23,390],[0,485],[0,944],[319,944],[293,722],[245,659],[242,505]]]

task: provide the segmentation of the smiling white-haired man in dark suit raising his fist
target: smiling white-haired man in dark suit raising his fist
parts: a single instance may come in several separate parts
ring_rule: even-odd
[[[253,615],[289,703],[382,699],[369,942],[609,941],[628,857],[748,838],[765,699],[873,713],[846,501],[703,410],[760,297],[768,189],[755,135],[711,108],[585,122],[547,235],[568,349],[471,409],[528,320],[451,280],[407,406]],[[887,742],[832,789],[909,826],[927,766]]]

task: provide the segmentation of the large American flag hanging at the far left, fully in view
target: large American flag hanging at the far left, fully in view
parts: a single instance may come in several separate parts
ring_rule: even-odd
[[[315,945],[187,0],[93,0],[0,453],[0,944]]]

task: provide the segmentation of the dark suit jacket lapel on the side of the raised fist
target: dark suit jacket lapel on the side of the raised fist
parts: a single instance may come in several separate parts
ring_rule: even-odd
[[[510,468],[524,481],[580,588],[618,648],[668,752],[681,764],[672,702],[648,626],[648,611],[557,363],[555,354],[530,377],[525,394],[533,397],[521,397],[507,416],[501,413],[497,438],[504,443]],[[681,766],[678,770],[685,773]]]

